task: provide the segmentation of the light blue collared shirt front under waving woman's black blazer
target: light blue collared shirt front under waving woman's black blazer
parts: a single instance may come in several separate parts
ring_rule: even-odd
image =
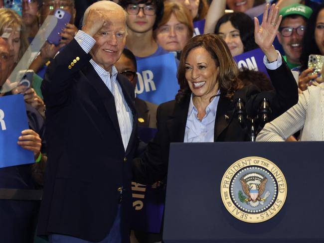
[[[217,94],[220,94],[219,91]],[[201,122],[197,118],[198,111],[193,105],[192,98],[193,94],[190,97],[183,142],[213,142],[219,96],[216,96],[206,107],[206,115]]]

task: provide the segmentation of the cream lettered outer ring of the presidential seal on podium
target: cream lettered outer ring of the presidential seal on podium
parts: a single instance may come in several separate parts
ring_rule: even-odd
[[[269,217],[265,217],[264,219],[261,219],[261,220],[256,220],[256,221],[252,221],[252,220],[245,220],[245,219],[242,219],[242,218],[239,218],[239,217],[237,217],[233,212],[231,212],[231,210],[230,210],[230,208],[233,208],[233,207],[235,207],[236,208],[236,210],[238,210],[238,211],[240,211],[240,212],[242,212],[238,207],[236,207],[236,205],[234,204],[234,202],[230,199],[230,201],[231,201],[231,203],[232,203],[232,206],[227,206],[227,203],[226,203],[226,200],[225,200],[225,198],[223,197],[223,192],[224,191],[227,191],[228,192],[228,197],[229,198],[231,198],[230,197],[230,187],[229,188],[226,188],[226,190],[223,188],[223,184],[224,184],[224,180],[228,180],[227,178],[225,178],[225,176],[228,174],[228,172],[230,171],[230,169],[232,168],[232,166],[234,165],[234,164],[236,164],[236,163],[238,163],[238,162],[240,162],[240,161],[242,161],[242,160],[246,160],[246,159],[260,159],[260,160],[264,160],[264,161],[266,161],[266,162],[268,162],[269,164],[271,164],[272,166],[274,166],[279,172],[280,172],[280,174],[282,175],[282,178],[283,178],[283,182],[284,182],[284,185],[285,185],[285,192],[284,193],[280,193],[279,192],[279,186],[278,186],[278,196],[277,196],[277,199],[278,198],[280,198],[281,200],[282,200],[282,203],[281,203],[281,205],[280,205],[280,207],[273,213],[273,215],[271,215],[271,216],[269,216]],[[260,165],[260,164],[257,164],[257,165],[247,165],[247,166],[244,166],[244,167],[242,167],[242,168],[240,168],[240,169],[244,169],[245,167],[249,167],[249,166],[260,166],[260,167],[263,167],[263,168],[265,168],[265,169],[267,169],[267,170],[269,170],[267,167],[265,167],[265,166],[263,166],[263,165]],[[270,170],[269,170],[270,171]],[[236,173],[234,173],[234,175],[233,176],[235,176],[235,174]],[[233,178],[233,176],[231,177],[231,180],[232,180],[232,178]],[[276,178],[276,177],[275,177]],[[277,178],[276,178],[276,181],[277,181]],[[277,184],[278,184],[278,182],[277,182]],[[224,205],[224,207],[226,208],[226,210],[234,217],[234,218],[236,218],[236,219],[238,219],[238,220],[240,220],[240,221],[243,221],[243,222],[246,222],[246,223],[252,223],[252,224],[254,224],[254,223],[261,223],[261,222],[265,222],[265,221],[268,221],[268,220],[270,220],[271,218],[273,218],[275,215],[277,215],[279,212],[280,212],[280,210],[282,209],[282,207],[285,205],[285,202],[286,202],[286,198],[287,198],[287,182],[286,182],[286,178],[285,178],[285,176],[284,176],[284,174],[283,174],[283,172],[280,170],[280,168],[274,163],[274,162],[272,162],[272,161],[270,161],[269,159],[266,159],[266,158],[263,158],[263,157],[259,157],[259,156],[248,156],[248,157],[244,157],[244,158],[241,158],[241,159],[239,159],[239,160],[236,160],[234,163],[232,163],[229,167],[228,167],[228,169],[225,171],[225,173],[224,173],[224,175],[223,175],[223,177],[222,177],[222,180],[221,180],[221,184],[220,184],[220,196],[221,196],[221,198],[222,198],[222,202],[223,202],[223,205]],[[268,211],[268,210],[267,210]],[[261,217],[261,214],[263,214],[263,213],[265,213],[265,212],[267,212],[267,211],[264,211],[264,212],[262,212],[262,213],[260,213],[260,214],[254,214],[254,216],[255,217],[257,217],[257,216],[259,216],[259,217]],[[242,213],[244,213],[244,212],[242,212]],[[245,213],[245,214],[248,214],[248,213]],[[250,215],[250,214],[248,214],[248,215]]]

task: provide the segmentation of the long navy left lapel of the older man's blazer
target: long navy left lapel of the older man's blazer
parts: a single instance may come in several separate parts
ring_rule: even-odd
[[[89,84],[91,84],[94,89],[97,91],[99,98],[102,100],[105,110],[107,111],[110,120],[112,121],[116,132],[119,135],[119,138],[122,140],[121,131],[119,128],[117,113],[116,113],[116,106],[115,106],[115,100],[113,94],[110,92],[108,87],[105,85],[105,83],[102,81],[102,79],[97,74],[96,70],[93,68],[91,63],[89,62],[84,70],[84,75],[86,76],[86,80]]]

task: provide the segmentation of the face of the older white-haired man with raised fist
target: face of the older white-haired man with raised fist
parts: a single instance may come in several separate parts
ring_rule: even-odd
[[[107,16],[106,24],[93,36],[96,44],[90,54],[97,64],[111,72],[126,43],[126,18],[122,10],[102,11]]]

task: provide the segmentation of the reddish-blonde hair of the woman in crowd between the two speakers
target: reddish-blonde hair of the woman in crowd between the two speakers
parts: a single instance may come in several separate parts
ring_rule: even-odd
[[[153,32],[153,37],[156,39],[158,29],[169,21],[172,13],[180,23],[183,23],[188,27],[188,38],[191,38],[193,35],[193,23],[189,10],[180,3],[170,1],[164,2],[163,17],[159,22],[158,27]]]

